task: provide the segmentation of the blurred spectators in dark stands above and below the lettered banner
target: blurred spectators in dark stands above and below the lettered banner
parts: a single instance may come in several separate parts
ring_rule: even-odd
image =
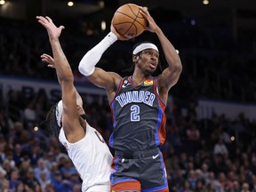
[[[56,79],[55,72],[40,60],[43,52],[51,54],[44,30],[1,22],[0,75]],[[230,34],[226,30],[216,29],[213,33],[186,22],[175,27],[162,25],[164,29],[171,28],[170,39],[179,48],[184,66],[170,93],[175,100],[188,102],[186,113],[179,106],[166,108],[166,142],[161,150],[170,191],[256,192],[256,121],[248,120],[244,114],[236,119],[225,115],[199,119],[194,101],[199,97],[256,100],[256,84],[252,81],[256,70],[252,68],[256,61],[252,54],[256,50],[255,36],[246,34],[252,37],[251,41],[237,36],[235,41],[227,38]],[[98,37],[87,36],[95,43]],[[61,41],[76,83],[88,84],[76,68],[94,41],[88,43],[68,31]],[[114,57],[107,52],[100,67],[123,73],[121,69],[129,68],[125,63],[131,59],[126,48],[117,43],[113,46],[116,59],[110,60]],[[52,100],[42,92],[26,98],[23,92],[13,90],[7,98],[0,100],[1,191],[80,191],[81,180],[65,148],[41,124]],[[108,140],[112,132],[108,103],[84,100],[84,108],[89,124]]]

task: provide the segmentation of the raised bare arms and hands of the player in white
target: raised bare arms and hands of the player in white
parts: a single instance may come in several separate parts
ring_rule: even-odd
[[[57,28],[49,17],[37,16],[36,19],[46,28],[50,44],[52,47],[53,59],[49,64],[50,67],[56,68],[56,74],[61,87],[61,98],[63,112],[60,117],[62,127],[67,136],[68,141],[76,142],[84,137],[84,128],[79,123],[79,114],[76,107],[76,88],[74,86],[74,76],[69,66],[68,60],[60,45],[60,34],[64,28]],[[50,60],[49,56],[42,55],[43,59]],[[76,132],[75,132],[76,130]]]

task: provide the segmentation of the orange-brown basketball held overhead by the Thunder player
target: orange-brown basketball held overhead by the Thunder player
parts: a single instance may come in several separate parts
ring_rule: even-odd
[[[140,36],[148,25],[137,4],[124,4],[114,13],[112,20],[116,32],[129,39]]]

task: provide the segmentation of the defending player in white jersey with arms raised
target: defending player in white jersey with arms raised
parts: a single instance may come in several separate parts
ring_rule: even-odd
[[[49,67],[56,68],[62,93],[62,100],[51,108],[47,116],[52,133],[67,149],[83,180],[82,191],[109,192],[113,156],[100,133],[83,118],[83,101],[76,92],[73,73],[60,46],[59,37],[64,27],[57,28],[49,17],[37,16],[36,19],[47,29],[54,58],[43,54],[42,60],[49,63]]]

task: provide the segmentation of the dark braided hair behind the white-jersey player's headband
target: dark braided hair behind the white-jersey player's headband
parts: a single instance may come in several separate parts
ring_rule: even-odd
[[[58,102],[52,106],[52,108],[49,110],[47,116],[46,116],[46,122],[47,122],[47,129],[48,132],[51,135],[54,135],[55,137],[59,137],[60,134],[60,126],[57,124],[56,119],[56,108],[58,106]]]

